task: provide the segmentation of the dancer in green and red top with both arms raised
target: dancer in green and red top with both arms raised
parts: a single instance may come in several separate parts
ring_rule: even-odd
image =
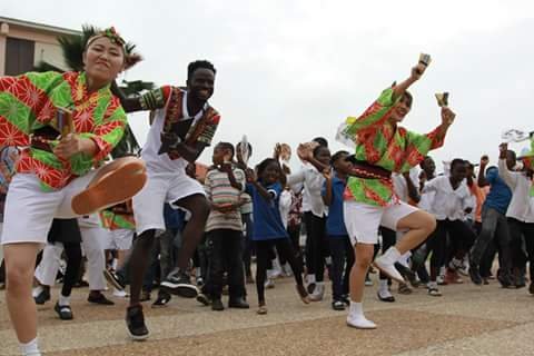
[[[442,108],[442,123],[427,135],[399,127],[412,107],[409,86],[424,73],[419,62],[408,79],[382,92],[379,98],[358,118],[347,118],[340,137],[356,144],[353,170],[345,190],[344,215],[354,246],[356,263],[350,271],[350,308],[347,325],[376,328],[364,316],[362,299],[367,269],[373,260],[378,227],[406,231],[403,239],[375,261],[387,276],[404,281],[394,264],[403,254],[424,241],[435,229],[429,214],[400,201],[394,194],[392,172],[405,172],[418,165],[431,149],[443,145],[454,121],[451,109]]]

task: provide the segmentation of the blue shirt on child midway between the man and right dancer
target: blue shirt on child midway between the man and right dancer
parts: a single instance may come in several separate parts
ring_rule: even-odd
[[[284,224],[281,224],[280,209],[278,202],[280,199],[281,185],[276,182],[265,187],[271,195],[271,199],[265,199],[251,184],[247,184],[247,192],[253,197],[253,240],[273,240],[278,238],[289,238]]]

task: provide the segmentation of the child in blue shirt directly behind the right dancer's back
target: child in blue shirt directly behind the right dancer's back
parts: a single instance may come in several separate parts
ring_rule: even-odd
[[[324,174],[323,201],[328,207],[326,234],[332,254],[332,308],[345,310],[349,304],[348,279],[354,264],[354,253],[343,217],[343,194],[352,162],[347,151],[338,151],[332,157],[333,172]],[[346,266],[345,266],[346,264]]]

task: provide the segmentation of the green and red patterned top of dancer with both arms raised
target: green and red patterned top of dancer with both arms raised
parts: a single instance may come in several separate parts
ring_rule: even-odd
[[[400,100],[393,95],[393,88],[388,88],[360,117],[348,117],[340,136],[356,145],[357,160],[392,172],[405,172],[418,165],[429,150],[442,147],[443,137],[438,128],[419,135],[389,125],[393,109]],[[345,190],[346,200],[373,206],[387,206],[395,197],[392,179],[350,177]]]

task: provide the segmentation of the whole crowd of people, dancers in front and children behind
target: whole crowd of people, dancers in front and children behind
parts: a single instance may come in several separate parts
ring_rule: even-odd
[[[346,119],[337,137],[353,151],[333,152],[317,137],[295,148],[301,167],[291,170],[286,144],[251,166],[250,142],[219,141],[201,176],[196,161],[220,120],[208,103],[212,63],[191,62],[186,87],[126,97],[112,82],[136,59],[112,28],[87,41],[83,61],[83,72],[0,78],[2,283],[23,355],[40,355],[36,304],[49,301],[58,281],[59,318],[75,317],[71,291],[86,281],[89,303],[113,305],[109,285],[113,298],[129,299],[130,337],[146,339],[142,303],[166,307],[177,295],[220,312],[228,294],[228,308],[248,309],[255,284],[256,313],[265,315],[277,276],[295,279],[304,304],[330,288],[332,308],[348,309],[347,325],[366,329],[376,328],[362,304],[374,271],[384,303],[418,287],[439,297],[442,285],[465,276],[476,285],[495,276],[504,288],[532,279],[532,156],[503,144],[497,166],[487,156],[479,165],[454,158],[437,174],[429,151],[455,119],[446,102],[426,135],[398,126],[429,58]],[[59,108],[72,110],[69,132]],[[150,111],[140,157],[103,164],[126,112],[139,110]]]

